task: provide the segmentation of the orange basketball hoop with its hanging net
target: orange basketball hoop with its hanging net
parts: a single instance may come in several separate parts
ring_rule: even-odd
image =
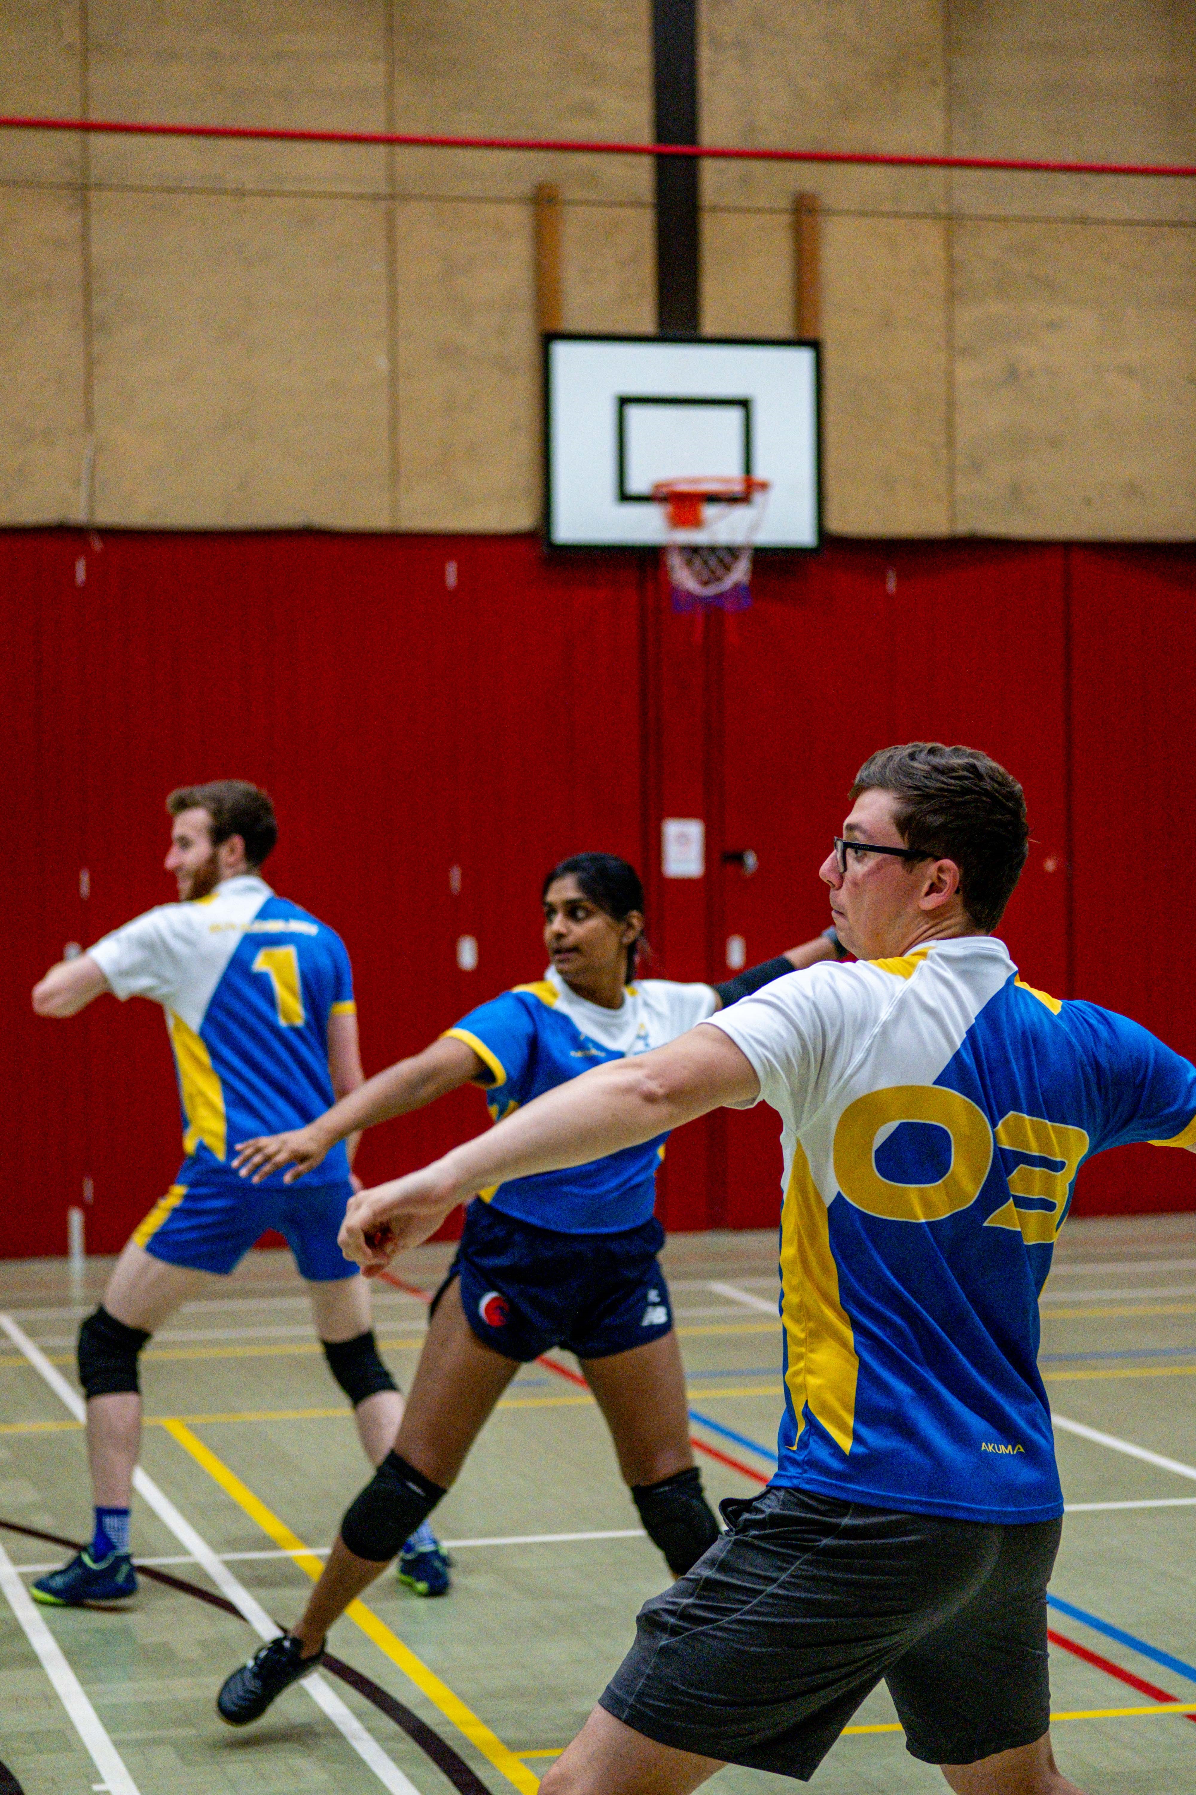
[[[656,481],[653,499],[665,522],[660,562],[674,610],[746,610],[767,492],[769,483],[750,474]]]

